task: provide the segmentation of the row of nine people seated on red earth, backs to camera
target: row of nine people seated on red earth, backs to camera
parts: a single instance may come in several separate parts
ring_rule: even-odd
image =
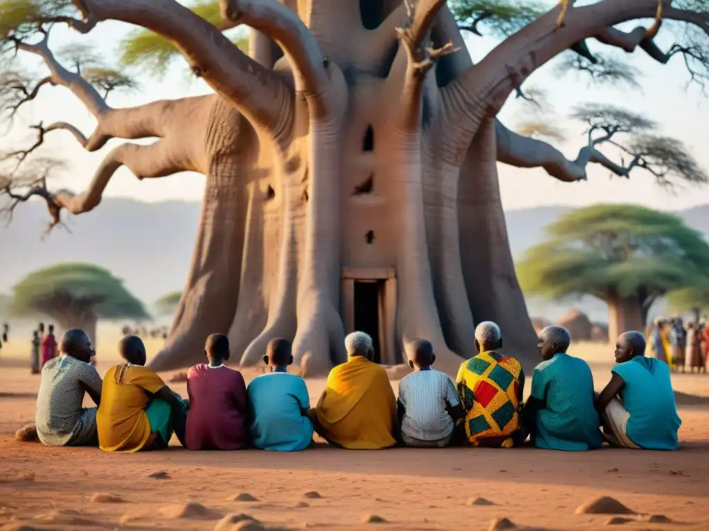
[[[183,400],[145,367],[145,346],[136,336],[121,340],[124,361],[108,369],[102,383],[89,365],[89,338],[74,329],[62,336],[60,357],[43,369],[36,429],[46,445],[98,444],[108,452],[164,448],[173,433],[190,450],[298,451],[311,446],[313,432],[357,450],[509,448],[527,437],[547,450],[593,450],[603,440],[616,447],[676,449],[681,421],[669,367],[644,356],[642,334],[618,338],[617,365],[599,394],[588,364],[567,353],[570,345],[566,329],[542,331],[542,362],[532,373],[525,404],[524,372],[517,360],[501,354],[496,324],[477,326],[479,353],[460,365],[456,384],[432,370],[431,343],[413,341],[407,350],[414,372],[401,379],[396,398],[384,368],[372,361],[372,338],[354,332],[345,338],[347,362],[333,368],[310,409],[305,381],[287,372],[293,356],[285,339],[269,342],[263,357],[269,372],[247,387],[240,372],[224,365],[228,338],[209,336],[207,362],[189,370],[189,400]],[[85,392],[98,408],[82,408]]]

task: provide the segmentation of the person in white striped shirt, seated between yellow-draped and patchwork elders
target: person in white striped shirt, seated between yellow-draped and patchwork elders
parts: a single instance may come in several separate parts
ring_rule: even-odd
[[[431,343],[417,339],[410,350],[408,365],[415,372],[399,382],[396,401],[401,440],[406,446],[445,447],[465,410],[450,378],[431,369],[436,360]]]

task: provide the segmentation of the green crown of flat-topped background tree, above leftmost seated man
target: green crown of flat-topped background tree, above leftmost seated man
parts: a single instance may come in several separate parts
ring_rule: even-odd
[[[148,317],[143,303],[130,295],[123,281],[96,265],[60,263],[30,273],[13,287],[13,314],[49,313],[55,299],[70,299],[77,307],[95,304],[104,319]]]

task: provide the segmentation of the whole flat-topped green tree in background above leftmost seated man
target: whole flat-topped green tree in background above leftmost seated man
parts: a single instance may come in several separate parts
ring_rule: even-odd
[[[30,273],[13,287],[10,309],[20,316],[45,314],[60,329],[84,329],[94,342],[99,318],[148,317],[122,280],[87,263],[60,263]]]

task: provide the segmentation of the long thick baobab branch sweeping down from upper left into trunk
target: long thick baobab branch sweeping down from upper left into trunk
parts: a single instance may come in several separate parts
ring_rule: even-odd
[[[290,127],[284,120],[292,104],[283,79],[251,59],[218,28],[174,0],[82,0],[98,21],[123,21],[142,26],[170,40],[196,76],[233,103],[242,115],[273,137]]]

